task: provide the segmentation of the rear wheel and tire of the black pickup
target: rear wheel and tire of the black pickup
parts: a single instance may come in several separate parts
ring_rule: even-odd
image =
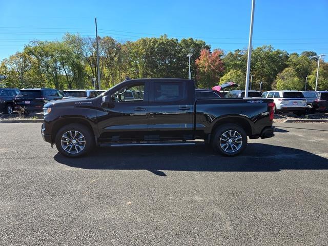
[[[231,133],[229,136],[230,131],[231,131]],[[235,134],[233,134],[233,132],[235,132]],[[225,139],[224,135],[227,137],[227,141],[224,140]],[[231,135],[238,136],[238,139],[232,137]],[[239,136],[241,138],[239,138]],[[240,139],[241,139],[241,142],[240,142]],[[226,149],[223,148],[223,147],[225,147],[225,144],[228,145],[228,148],[226,148]],[[223,147],[222,147],[222,145],[223,145]],[[233,146],[235,146],[235,147],[233,147]],[[224,156],[238,155],[246,148],[246,146],[247,146],[247,134],[238,125],[225,124],[225,125],[219,126],[213,133],[212,147],[216,153],[219,153],[221,155],[224,155]]]

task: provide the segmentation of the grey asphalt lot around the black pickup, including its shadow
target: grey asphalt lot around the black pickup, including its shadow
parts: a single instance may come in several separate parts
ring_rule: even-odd
[[[0,245],[328,242],[328,124],[277,123],[231,158],[140,147],[67,159],[40,126],[0,125]]]

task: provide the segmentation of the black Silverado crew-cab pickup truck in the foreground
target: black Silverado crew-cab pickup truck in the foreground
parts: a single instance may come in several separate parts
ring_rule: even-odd
[[[126,92],[138,92],[136,99]],[[249,138],[274,136],[274,103],[264,98],[196,99],[188,79],[129,79],[95,98],[44,106],[42,136],[68,157],[93,147],[196,145],[234,156]]]

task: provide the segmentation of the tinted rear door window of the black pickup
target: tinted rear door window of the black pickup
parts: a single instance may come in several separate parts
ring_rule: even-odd
[[[182,83],[154,83],[154,100],[155,101],[179,101],[183,99]]]

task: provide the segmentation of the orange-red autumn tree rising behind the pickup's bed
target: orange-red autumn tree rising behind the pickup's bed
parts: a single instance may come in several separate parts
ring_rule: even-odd
[[[214,50],[212,53],[208,49],[201,50],[199,58],[195,61],[198,88],[212,88],[217,85],[223,73],[222,54],[221,50]]]

